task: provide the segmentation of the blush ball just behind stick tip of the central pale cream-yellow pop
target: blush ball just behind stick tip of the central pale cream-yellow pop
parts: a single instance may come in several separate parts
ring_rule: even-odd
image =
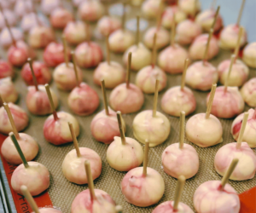
[[[165,89],[167,77],[166,72],[163,72],[158,66],[145,66],[139,72],[135,79],[135,84],[143,90],[143,93],[154,93],[154,85],[156,79],[159,79],[159,91]]]

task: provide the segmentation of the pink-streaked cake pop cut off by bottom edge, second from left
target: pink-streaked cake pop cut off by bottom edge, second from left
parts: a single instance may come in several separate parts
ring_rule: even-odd
[[[84,162],[86,176],[88,178],[89,189],[79,193],[71,205],[71,213],[89,212],[109,212],[115,213],[115,202],[108,193],[95,189],[91,176],[90,162]]]

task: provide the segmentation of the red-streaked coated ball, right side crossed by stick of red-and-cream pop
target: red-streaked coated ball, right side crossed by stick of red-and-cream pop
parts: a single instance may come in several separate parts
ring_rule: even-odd
[[[52,112],[44,85],[38,85],[38,91],[34,86],[29,86],[27,90],[26,107],[29,112],[34,115],[48,115]],[[59,105],[58,97],[52,89],[50,93],[56,109]]]

